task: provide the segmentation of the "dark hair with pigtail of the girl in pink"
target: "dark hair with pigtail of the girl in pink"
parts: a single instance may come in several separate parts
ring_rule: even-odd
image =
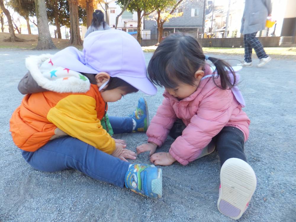
[[[186,33],[174,33],[166,37],[155,50],[148,68],[148,77],[158,86],[176,88],[182,82],[194,85],[194,73],[202,66],[205,67],[205,55],[197,39]],[[235,86],[236,78],[232,67],[225,61],[208,57],[216,66],[214,78],[220,76],[221,89],[231,89]],[[234,81],[229,78],[229,72]],[[216,84],[216,83],[215,83]],[[217,86],[217,84],[216,84]]]

